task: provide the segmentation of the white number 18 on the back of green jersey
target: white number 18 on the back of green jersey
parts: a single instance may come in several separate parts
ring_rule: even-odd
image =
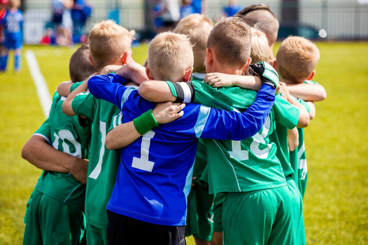
[[[256,133],[255,136],[253,136],[253,141],[250,146],[250,149],[253,152],[253,154],[261,159],[267,158],[268,153],[271,150],[271,144],[267,144],[267,147],[263,150],[259,149],[260,143],[262,144],[266,143],[264,139],[266,138],[268,132],[270,131],[270,126],[271,126],[271,119],[269,116],[267,116],[266,122],[262,127],[262,133],[261,134]],[[244,161],[249,159],[248,157],[249,151],[241,149],[241,141],[231,140],[231,149],[232,151],[229,151],[230,158],[235,158],[238,161]]]

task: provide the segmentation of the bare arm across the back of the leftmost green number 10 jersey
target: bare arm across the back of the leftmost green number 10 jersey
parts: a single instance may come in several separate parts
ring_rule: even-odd
[[[88,161],[58,151],[41,136],[33,135],[25,143],[22,149],[22,158],[39,169],[71,173],[79,182],[86,184]]]

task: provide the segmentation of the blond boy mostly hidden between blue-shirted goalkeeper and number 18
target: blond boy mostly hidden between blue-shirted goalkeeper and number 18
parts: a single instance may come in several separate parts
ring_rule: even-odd
[[[188,35],[193,45],[193,80],[202,81],[206,75],[206,44],[212,27],[209,18],[201,14],[191,14],[181,19],[174,29],[176,33]],[[203,139],[198,141],[193,176],[195,181],[188,195],[185,236],[192,234],[197,245],[210,244],[210,241],[212,245],[222,244],[222,205],[219,201],[224,199],[224,195],[208,193],[207,158]]]

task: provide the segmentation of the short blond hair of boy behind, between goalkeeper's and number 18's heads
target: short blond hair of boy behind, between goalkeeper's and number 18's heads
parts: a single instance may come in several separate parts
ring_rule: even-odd
[[[206,49],[212,21],[203,14],[190,14],[179,21],[174,32],[188,35],[195,47]]]

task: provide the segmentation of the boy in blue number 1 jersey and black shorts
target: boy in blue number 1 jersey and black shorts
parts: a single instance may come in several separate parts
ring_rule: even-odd
[[[146,74],[150,79],[188,81],[193,69],[192,55],[186,36],[160,33],[150,43]],[[130,74],[126,75],[130,79]],[[88,87],[97,98],[119,106],[124,122],[133,120],[136,125],[137,116],[154,104],[139,96],[137,90],[120,85],[122,81],[112,74],[95,76]],[[122,149],[117,181],[107,204],[109,243],[185,244],[186,198],[198,138],[251,137],[265,122],[274,93],[274,85],[263,84],[254,104],[242,114],[187,104],[184,115],[174,122],[153,130],[136,126],[143,137]],[[106,144],[107,141],[106,138]]]

